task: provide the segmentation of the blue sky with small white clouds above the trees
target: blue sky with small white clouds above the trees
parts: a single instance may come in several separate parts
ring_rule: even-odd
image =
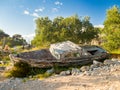
[[[93,25],[102,25],[106,10],[120,6],[120,0],[0,0],[0,29],[9,35],[32,35],[35,18],[48,16],[90,16]]]

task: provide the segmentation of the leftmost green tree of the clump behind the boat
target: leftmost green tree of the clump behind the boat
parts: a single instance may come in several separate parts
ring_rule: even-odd
[[[48,18],[38,18],[36,21],[36,36],[32,41],[32,44],[46,45],[51,41],[52,36],[52,21]]]

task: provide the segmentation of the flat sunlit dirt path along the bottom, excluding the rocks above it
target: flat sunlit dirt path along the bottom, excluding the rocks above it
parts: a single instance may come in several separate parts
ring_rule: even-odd
[[[118,75],[119,74],[119,75]],[[116,76],[117,75],[117,76]],[[57,76],[45,80],[7,80],[0,90],[120,90],[120,71],[105,76]],[[1,85],[3,86],[3,85]]]

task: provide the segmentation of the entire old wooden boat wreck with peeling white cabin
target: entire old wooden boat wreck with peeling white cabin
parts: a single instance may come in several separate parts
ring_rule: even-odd
[[[108,53],[98,46],[78,46],[71,41],[51,44],[49,49],[10,54],[13,64],[26,62],[33,67],[75,66],[104,61]]]

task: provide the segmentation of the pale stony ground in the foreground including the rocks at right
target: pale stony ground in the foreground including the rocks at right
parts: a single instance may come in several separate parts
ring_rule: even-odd
[[[0,90],[120,90],[120,61],[93,61],[91,66],[62,71],[44,80],[0,80]]]

